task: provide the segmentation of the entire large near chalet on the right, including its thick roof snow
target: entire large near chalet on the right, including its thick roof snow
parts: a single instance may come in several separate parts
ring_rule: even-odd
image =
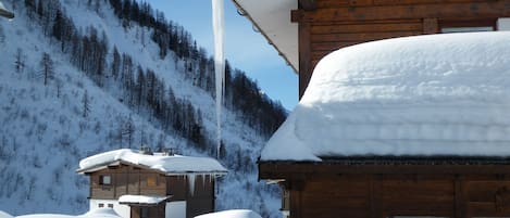
[[[357,86],[345,86],[349,81],[359,81],[358,88],[383,79],[395,82],[382,84],[381,87],[374,86],[374,89],[383,88],[381,92],[371,92],[374,95],[386,93],[403,81],[418,82],[415,86],[406,87],[409,90],[424,88],[418,86],[423,84],[420,80],[422,79],[420,76],[423,75],[420,73],[427,74],[428,72],[410,70],[407,73],[415,73],[415,77],[406,77],[399,81],[391,80],[401,75],[391,75],[391,70],[385,70],[384,64],[387,63],[401,63],[401,66],[406,68],[412,65],[410,63],[426,66],[437,64],[443,59],[445,63],[450,64],[449,67],[460,66],[459,63],[465,65],[450,68],[452,70],[445,68],[448,70],[443,72],[445,74],[441,75],[451,72],[473,73],[471,69],[459,72],[467,69],[463,68],[464,66],[471,65],[462,55],[435,50],[428,55],[432,61],[420,60],[414,59],[421,55],[418,51],[409,52],[411,56],[402,56],[401,53],[395,52],[396,48],[402,48],[401,41],[385,40],[386,42],[381,43],[372,41],[443,33],[509,30],[510,0],[233,1],[239,14],[252,22],[254,28],[260,30],[299,75],[298,95],[301,103],[271,138],[259,161],[259,178],[277,182],[283,189],[284,217],[510,216],[510,153],[508,152],[510,149],[505,149],[510,144],[509,139],[506,138],[506,134],[510,132],[503,130],[509,124],[507,118],[494,117],[507,110],[502,105],[510,102],[510,99],[507,99],[508,95],[497,100],[499,102],[495,105],[500,106],[492,107],[495,111],[488,110],[487,105],[476,106],[476,110],[481,110],[478,112],[487,111],[473,116],[473,114],[468,115],[471,112],[465,110],[472,108],[473,105],[459,106],[462,103],[458,101],[462,101],[463,97],[443,99],[444,104],[459,103],[456,110],[448,111],[450,114],[444,114],[446,111],[441,111],[444,108],[441,104],[428,102],[431,99],[423,99],[423,102],[419,104],[406,103],[407,100],[421,95],[406,97],[400,99],[401,101],[396,101],[401,103],[397,108],[391,104],[382,104],[384,98],[362,99],[365,94],[363,90],[358,90]],[[502,51],[498,49],[499,47],[494,47],[494,41],[492,41],[501,36],[493,38],[494,36],[490,35],[474,35],[474,37],[482,37],[478,38],[480,41],[473,42],[480,48],[478,51],[493,52],[493,55]],[[510,38],[508,35],[505,37]],[[468,36],[468,38],[471,37]],[[457,43],[455,39],[457,38],[445,38],[451,44]],[[421,43],[420,38],[416,40]],[[423,40],[426,41],[426,39]],[[414,39],[409,41],[414,41]],[[502,41],[498,43],[510,43],[510,41],[505,42],[505,39]],[[419,48],[424,51],[423,53],[427,53],[428,49],[450,48],[446,43],[439,47],[440,40],[434,42],[437,43],[427,42],[424,43],[427,47],[422,44]],[[406,48],[413,47],[408,46]],[[471,46],[473,44],[467,47]],[[352,56],[362,57],[366,52],[360,52],[361,50],[372,51],[376,47],[386,50],[368,52],[368,56],[373,59],[351,59],[347,52],[354,52],[351,53]],[[462,48],[462,44],[459,47]],[[326,57],[328,61],[325,62],[337,67],[331,70],[344,73],[346,77],[333,74],[328,75],[329,77],[319,76],[316,84],[310,84],[313,81],[311,80],[313,74],[327,72],[325,67],[316,70],[318,65],[321,65],[320,61],[343,48],[347,50],[338,52],[345,53],[346,59]],[[473,53],[468,52],[465,55]],[[501,52],[501,55],[507,55]],[[432,54],[440,54],[438,55],[440,59]],[[400,59],[391,60],[391,56]],[[388,59],[380,60],[380,57]],[[344,63],[350,66],[351,61],[366,68],[380,67],[382,70],[380,75],[374,73],[370,77],[358,78],[357,72],[343,70],[347,67],[339,65]],[[427,61],[431,62],[427,63]],[[492,61],[478,59],[478,62],[473,63],[485,65],[488,62]],[[506,61],[499,63],[506,63]],[[478,73],[474,77],[480,79],[480,84],[492,82],[486,80],[490,78],[494,81],[506,81],[507,79],[495,79],[507,75],[508,72],[505,72],[503,66],[508,65],[501,65],[500,69],[503,70],[495,70],[490,76],[486,75],[485,69],[474,70]],[[439,68],[441,67],[436,69]],[[391,69],[398,72],[399,67]],[[341,78],[352,80],[341,80]],[[467,77],[459,77],[458,81],[462,82],[462,78]],[[325,82],[328,79],[331,82]],[[433,90],[437,90],[433,87],[437,81],[440,84],[440,80],[430,80],[431,90],[420,93],[432,93]],[[335,82],[338,82],[336,85],[338,85],[337,88],[341,88],[340,90],[324,87],[324,85]],[[475,86],[475,84],[467,86]],[[505,89],[505,87],[507,85],[498,84],[492,88]],[[384,90],[385,88],[387,90]],[[474,92],[470,94],[487,91],[477,88],[473,90]],[[357,94],[345,94],[349,91]],[[501,93],[508,94],[506,91],[498,92],[498,94]],[[448,94],[445,93],[444,97]],[[339,97],[339,99],[328,99],[332,95]],[[347,97],[352,99],[341,99]],[[359,98],[359,101],[356,98]],[[485,102],[485,100],[481,98],[473,103],[477,104],[476,102]],[[409,110],[409,114],[402,113],[402,108]],[[362,112],[366,112],[364,116],[358,114]],[[423,114],[410,115],[416,112],[423,112]],[[424,117],[427,118],[422,119]],[[459,120],[452,120],[451,117],[458,117]],[[471,120],[474,117],[481,118],[480,124],[485,125],[477,126],[478,124]],[[435,126],[440,120],[445,126]],[[449,127],[452,129],[448,129]],[[480,129],[474,130],[478,127]],[[480,134],[481,132],[484,133]],[[459,138],[449,138],[453,134]],[[487,138],[496,134],[499,137]],[[382,148],[387,150],[381,150]],[[501,150],[494,150],[495,148]],[[487,151],[493,151],[493,153]]]

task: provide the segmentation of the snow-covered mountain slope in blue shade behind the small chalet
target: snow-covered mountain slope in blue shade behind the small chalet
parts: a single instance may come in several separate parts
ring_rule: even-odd
[[[45,34],[47,28],[34,18],[37,15],[27,14],[24,1],[3,2],[16,18],[0,20],[0,210],[84,214],[88,180],[75,169],[80,158],[99,152],[145,143],[177,148],[185,155],[211,155],[182,134],[163,130],[150,110],[130,104],[125,90],[107,76],[116,48],[190,103],[191,113],[200,117],[200,132],[213,137],[213,97],[186,76],[191,61],[173,52],[161,59],[151,29],[133,22],[125,27],[107,1],[95,8],[85,0],[62,0],[62,11],[76,29],[86,34],[94,27],[108,39],[107,73],[97,82],[73,64],[63,43]],[[52,74],[46,77],[45,69]],[[264,217],[278,216],[277,189],[257,178],[256,159],[264,137],[241,120],[239,112],[224,111],[221,162],[229,174],[220,182],[217,209],[248,208]]]

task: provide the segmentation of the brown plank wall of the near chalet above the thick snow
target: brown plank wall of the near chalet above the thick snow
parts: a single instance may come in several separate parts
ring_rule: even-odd
[[[381,39],[439,33],[441,25],[495,26],[510,0],[315,0],[291,11],[299,23],[299,97],[313,68],[337,49]],[[492,24],[492,25],[490,25]]]

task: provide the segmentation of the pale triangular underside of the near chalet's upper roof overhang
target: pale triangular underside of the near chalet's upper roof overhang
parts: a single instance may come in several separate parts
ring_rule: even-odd
[[[283,57],[299,68],[298,24],[290,22],[297,0],[233,0],[239,13],[248,17]]]

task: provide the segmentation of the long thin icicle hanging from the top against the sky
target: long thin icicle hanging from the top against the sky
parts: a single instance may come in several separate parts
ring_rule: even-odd
[[[214,74],[216,77],[216,157],[220,158],[222,146],[222,105],[225,91],[225,57],[223,52],[224,41],[223,0],[212,0],[212,28],[214,34]]]

